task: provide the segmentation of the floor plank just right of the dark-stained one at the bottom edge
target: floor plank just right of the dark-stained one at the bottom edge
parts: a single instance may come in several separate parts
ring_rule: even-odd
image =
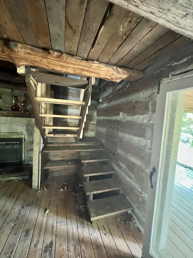
[[[58,213],[56,223],[55,257],[68,258],[66,191],[58,191]]]

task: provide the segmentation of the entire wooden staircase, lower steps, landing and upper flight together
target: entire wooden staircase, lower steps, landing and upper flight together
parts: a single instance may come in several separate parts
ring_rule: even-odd
[[[45,143],[41,151],[41,183],[48,176],[79,173],[91,221],[130,211],[131,204],[122,194],[121,184],[101,142],[81,139],[90,104],[92,78],[83,80],[40,73],[31,67],[23,70],[36,126]],[[76,93],[80,92],[79,100],[58,98],[59,94],[54,97],[53,87],[75,88]],[[75,106],[78,112],[58,114],[54,112],[57,110],[54,105],[70,106],[70,110]],[[54,119],[73,119],[76,122],[55,124]]]

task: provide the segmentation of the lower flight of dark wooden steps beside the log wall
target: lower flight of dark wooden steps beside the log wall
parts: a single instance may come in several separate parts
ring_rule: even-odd
[[[97,150],[92,155],[81,152],[81,162],[81,178],[91,221],[132,210],[104,151],[98,153]]]

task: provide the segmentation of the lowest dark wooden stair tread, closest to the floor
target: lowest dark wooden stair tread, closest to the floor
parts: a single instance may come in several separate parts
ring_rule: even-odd
[[[132,205],[123,194],[87,201],[87,207],[91,221],[132,209]]]

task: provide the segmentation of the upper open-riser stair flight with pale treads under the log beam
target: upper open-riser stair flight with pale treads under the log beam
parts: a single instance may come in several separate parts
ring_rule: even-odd
[[[78,142],[83,136],[84,122],[90,105],[90,96],[92,91],[92,78],[75,79],[50,73],[42,73],[27,67],[26,83],[30,89],[33,106],[36,109],[35,118],[38,121],[37,126],[41,131],[43,138],[46,137],[75,137]],[[52,87],[51,87],[52,85]],[[70,87],[80,90],[80,100],[69,100],[55,98],[53,87]],[[53,112],[54,105],[65,105],[67,107],[79,108],[79,114],[56,114]],[[68,108],[67,108],[68,109]],[[73,124],[58,125],[54,119],[73,119]],[[62,122],[61,122],[62,123]]]

